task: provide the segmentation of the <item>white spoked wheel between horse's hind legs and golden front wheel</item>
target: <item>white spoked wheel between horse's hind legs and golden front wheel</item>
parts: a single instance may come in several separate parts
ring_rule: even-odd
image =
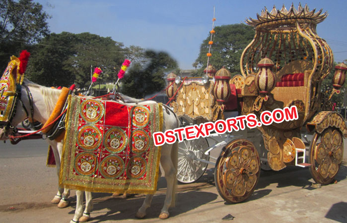
[[[208,163],[197,160],[209,160],[208,141],[205,138],[183,141],[178,144],[177,179],[181,183],[193,183],[204,175]]]

